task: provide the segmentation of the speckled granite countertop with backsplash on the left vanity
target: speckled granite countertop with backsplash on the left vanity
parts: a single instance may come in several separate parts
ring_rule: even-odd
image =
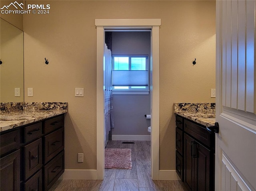
[[[0,104],[0,132],[68,112],[67,102]]]

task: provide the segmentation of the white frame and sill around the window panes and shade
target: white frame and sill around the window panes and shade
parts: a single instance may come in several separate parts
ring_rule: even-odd
[[[146,89],[136,89],[132,88],[132,86],[128,86],[128,89],[115,89],[112,85],[112,93],[113,95],[149,95],[149,83],[150,83],[150,75],[149,75],[149,55],[148,54],[113,54],[112,55],[112,71],[114,70],[114,57],[129,57],[129,70],[131,71],[132,67],[132,57],[145,57],[146,58],[146,70],[148,71],[148,86]],[[112,77],[111,77],[112,79]]]

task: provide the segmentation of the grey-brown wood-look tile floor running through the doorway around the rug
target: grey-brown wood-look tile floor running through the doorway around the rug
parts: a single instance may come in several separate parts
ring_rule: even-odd
[[[104,180],[58,180],[50,191],[186,191],[181,181],[153,181],[150,141],[108,141],[106,148],[131,148],[132,169],[105,169]]]

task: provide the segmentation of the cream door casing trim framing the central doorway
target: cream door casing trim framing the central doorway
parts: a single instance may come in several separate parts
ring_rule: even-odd
[[[151,178],[159,179],[159,26],[160,19],[96,19],[97,28],[97,179],[104,177],[103,57],[105,29],[151,29]]]

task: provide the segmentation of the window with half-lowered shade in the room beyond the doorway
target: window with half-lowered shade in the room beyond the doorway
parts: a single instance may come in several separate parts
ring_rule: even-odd
[[[148,55],[113,55],[112,58],[113,91],[148,94]]]

